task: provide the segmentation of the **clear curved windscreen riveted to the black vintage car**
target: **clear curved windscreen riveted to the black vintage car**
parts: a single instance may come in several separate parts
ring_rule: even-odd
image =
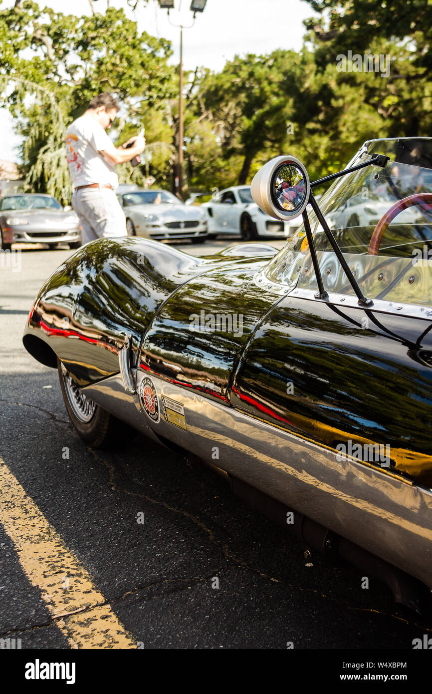
[[[397,146],[400,149],[399,141]],[[427,141],[431,145],[431,141]],[[372,153],[392,153],[387,141],[363,148],[350,165],[366,162]],[[373,149],[372,149],[373,148]],[[395,149],[395,148],[394,148]],[[397,152],[392,153],[395,157]],[[409,155],[413,160],[413,151]],[[410,156],[404,156],[408,160]],[[399,159],[403,157],[398,156]],[[320,199],[320,210],[362,291],[371,298],[387,298],[430,305],[432,303],[432,203],[420,199],[402,210],[378,233],[377,225],[403,198],[432,194],[432,169],[427,158],[419,163],[390,160],[386,167],[358,169],[331,184]],[[315,192],[320,192],[316,188]],[[345,273],[332,251],[311,206],[306,208],[327,291],[352,294]],[[382,223],[381,223],[382,224]],[[377,230],[377,231],[376,231]],[[377,271],[375,271],[377,270]],[[292,289],[316,289],[304,225],[270,262],[266,276]]]

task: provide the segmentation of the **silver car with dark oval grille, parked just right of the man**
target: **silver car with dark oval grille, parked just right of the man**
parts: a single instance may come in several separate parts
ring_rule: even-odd
[[[149,239],[207,239],[207,214],[166,190],[135,190],[118,194],[129,236]]]

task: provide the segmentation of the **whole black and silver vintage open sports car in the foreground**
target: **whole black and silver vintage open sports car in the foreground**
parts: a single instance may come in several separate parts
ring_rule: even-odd
[[[302,196],[282,206],[287,187]],[[24,346],[58,368],[89,444],[132,427],[192,452],[307,551],[367,568],[420,610],[432,589],[432,138],[366,142],[313,183],[277,157],[252,195],[276,219],[302,214],[279,253],[92,242],[42,287]]]

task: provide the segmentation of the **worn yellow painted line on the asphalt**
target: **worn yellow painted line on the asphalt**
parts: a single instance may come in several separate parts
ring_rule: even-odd
[[[137,648],[74,553],[0,457],[0,523],[71,648]]]

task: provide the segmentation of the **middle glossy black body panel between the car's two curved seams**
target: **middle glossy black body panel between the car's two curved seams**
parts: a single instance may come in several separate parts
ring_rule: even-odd
[[[140,368],[228,403],[241,353],[280,301],[253,282],[254,273],[267,262],[250,260],[246,266],[234,263],[207,271],[177,289],[144,337]],[[225,316],[219,319],[225,330],[214,329],[218,315]],[[191,329],[193,321],[194,328],[203,330]]]

